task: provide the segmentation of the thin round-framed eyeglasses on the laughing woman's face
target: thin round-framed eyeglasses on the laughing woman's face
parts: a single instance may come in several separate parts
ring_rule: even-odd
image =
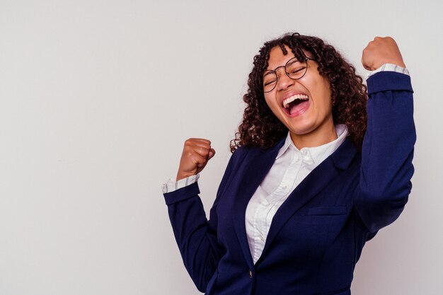
[[[263,92],[271,92],[277,85],[277,69],[284,67],[284,72],[292,80],[297,80],[303,78],[308,71],[308,59],[305,57],[304,60],[299,61],[297,57],[289,59],[284,66],[277,66],[274,70],[270,69],[263,73]],[[315,59],[311,59],[315,60]]]

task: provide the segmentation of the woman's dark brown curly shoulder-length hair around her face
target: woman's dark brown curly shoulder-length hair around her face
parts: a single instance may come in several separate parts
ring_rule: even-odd
[[[270,51],[280,47],[284,55],[292,50],[295,57],[310,58],[318,63],[318,72],[326,76],[332,93],[334,124],[345,124],[351,141],[361,150],[364,132],[367,127],[367,87],[363,79],[355,73],[355,67],[347,62],[332,45],[318,37],[287,33],[280,38],[265,42],[255,55],[253,69],[248,76],[248,91],[243,96],[246,108],[243,122],[231,140],[231,152],[240,146],[268,149],[287,135],[288,129],[272,113],[265,102],[263,93],[263,71],[267,69]]]

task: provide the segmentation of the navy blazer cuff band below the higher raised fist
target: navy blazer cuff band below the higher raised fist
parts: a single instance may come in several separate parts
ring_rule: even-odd
[[[381,91],[413,91],[410,76],[394,71],[379,71],[367,79],[368,94]]]

